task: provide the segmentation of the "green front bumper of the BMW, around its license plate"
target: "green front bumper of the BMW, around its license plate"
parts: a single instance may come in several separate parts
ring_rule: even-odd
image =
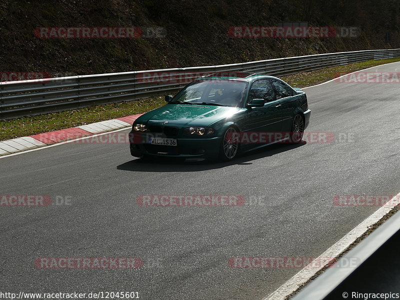
[[[129,133],[130,154],[135,157],[144,155],[190,158],[215,158],[219,154],[221,136],[176,138],[176,146],[156,145],[147,142],[148,135]],[[199,159],[200,160],[200,159]]]

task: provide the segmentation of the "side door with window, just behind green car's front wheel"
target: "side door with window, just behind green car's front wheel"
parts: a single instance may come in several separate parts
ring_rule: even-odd
[[[264,99],[264,106],[247,109],[247,122],[244,131],[252,132],[280,132],[281,114],[279,101],[271,82],[268,79],[255,80],[248,91],[247,102],[252,99]]]

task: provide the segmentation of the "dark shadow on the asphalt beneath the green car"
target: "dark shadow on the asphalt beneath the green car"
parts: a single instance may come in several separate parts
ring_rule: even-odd
[[[272,156],[277,153],[292,150],[305,145],[306,142],[298,144],[273,144],[261,147],[238,155],[231,161],[183,161],[174,157],[151,157],[150,159],[136,158],[119,164],[116,168],[124,171],[139,172],[192,172],[209,169],[222,168],[229,165],[252,164],[252,160]]]

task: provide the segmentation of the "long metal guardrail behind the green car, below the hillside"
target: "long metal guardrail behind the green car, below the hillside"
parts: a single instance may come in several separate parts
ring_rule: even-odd
[[[205,73],[240,71],[283,76],[398,56],[400,49],[364,50],[212,66],[0,82],[0,118],[29,116],[170,93]],[[160,79],[158,76],[162,74],[169,79]]]

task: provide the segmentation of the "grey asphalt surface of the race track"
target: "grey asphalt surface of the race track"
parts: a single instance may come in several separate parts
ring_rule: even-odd
[[[400,63],[371,71],[398,71]],[[228,163],[143,161],[127,144],[66,143],[0,159],[1,194],[71,205],[0,206],[0,291],[138,291],[141,299],[261,299],[298,268],[231,268],[233,256],[316,257],[378,207],[339,194],[400,191],[400,86],[305,89],[308,132]],[[127,130],[126,130],[127,131]],[[142,207],[143,194],[243,195],[238,207]],[[141,269],[39,269],[37,257],[141,257]]]

